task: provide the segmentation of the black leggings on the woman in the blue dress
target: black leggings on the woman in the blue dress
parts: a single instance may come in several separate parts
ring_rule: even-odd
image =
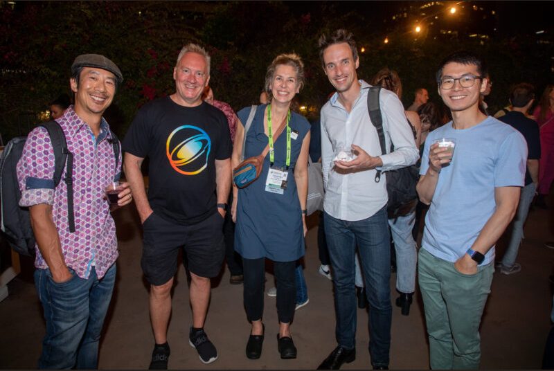
[[[279,322],[290,323],[296,307],[296,260],[274,262]],[[244,308],[249,321],[261,320],[264,312],[265,257],[242,258],[244,274]]]

